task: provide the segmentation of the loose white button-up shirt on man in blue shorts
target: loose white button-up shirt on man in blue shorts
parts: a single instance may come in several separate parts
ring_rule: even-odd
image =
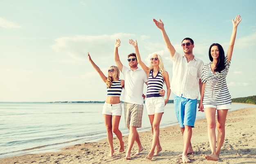
[[[177,51],[171,60],[173,61],[171,91],[179,97],[198,99],[199,79],[202,77],[204,62],[195,56],[192,61],[187,62],[185,55]]]

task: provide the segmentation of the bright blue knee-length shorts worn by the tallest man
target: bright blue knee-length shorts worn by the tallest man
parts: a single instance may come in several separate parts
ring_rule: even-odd
[[[195,125],[197,99],[173,96],[174,109],[180,127]]]

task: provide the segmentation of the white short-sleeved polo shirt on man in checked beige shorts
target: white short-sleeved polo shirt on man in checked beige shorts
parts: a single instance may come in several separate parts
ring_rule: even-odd
[[[130,68],[123,66],[121,72],[124,74],[123,101],[126,103],[143,105],[143,87],[144,83],[148,81],[148,76],[145,71],[140,68],[132,71]]]

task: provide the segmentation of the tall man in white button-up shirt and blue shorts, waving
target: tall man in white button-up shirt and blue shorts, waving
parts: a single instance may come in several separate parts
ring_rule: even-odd
[[[176,52],[164,29],[164,23],[153,19],[155,25],[161,30],[164,42],[173,61],[173,77],[171,91],[174,94],[174,108],[177,120],[183,135],[183,163],[190,163],[187,154],[193,153],[191,145],[192,127],[194,127],[197,99],[202,90],[203,61],[193,55],[194,42],[191,38],[182,40],[184,54]]]

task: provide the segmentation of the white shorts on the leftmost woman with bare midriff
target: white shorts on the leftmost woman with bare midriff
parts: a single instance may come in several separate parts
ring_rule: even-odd
[[[121,116],[122,114],[122,105],[118,104],[109,104],[104,103],[102,114],[112,115],[112,116]]]

